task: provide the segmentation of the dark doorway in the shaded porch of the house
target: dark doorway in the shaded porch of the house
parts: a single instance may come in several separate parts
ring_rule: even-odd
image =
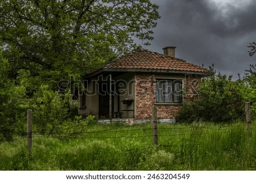
[[[98,118],[109,118],[109,84],[108,83],[99,84]]]

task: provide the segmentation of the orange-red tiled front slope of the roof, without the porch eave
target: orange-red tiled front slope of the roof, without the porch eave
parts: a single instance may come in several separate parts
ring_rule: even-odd
[[[147,69],[147,70],[173,70],[207,73],[208,70],[197,65],[189,64],[178,58],[165,56],[146,49],[137,48],[116,60],[109,62],[105,69]]]

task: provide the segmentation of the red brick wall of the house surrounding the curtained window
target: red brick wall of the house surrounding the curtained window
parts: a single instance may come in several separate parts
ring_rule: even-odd
[[[171,77],[170,77],[171,78]],[[185,100],[192,101],[197,98],[197,88],[200,78],[192,75],[184,75]],[[152,106],[155,104],[154,76],[148,73],[137,73],[135,75],[135,119],[151,119]],[[160,119],[175,118],[180,111],[181,105],[157,105],[157,115]]]

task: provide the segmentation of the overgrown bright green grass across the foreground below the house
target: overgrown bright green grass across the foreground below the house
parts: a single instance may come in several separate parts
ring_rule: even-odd
[[[91,124],[82,132],[0,143],[0,170],[256,170],[246,124]]]

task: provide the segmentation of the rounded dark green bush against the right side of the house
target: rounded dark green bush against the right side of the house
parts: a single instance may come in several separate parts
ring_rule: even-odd
[[[213,75],[202,81],[200,97],[184,104],[177,121],[232,122],[243,117],[247,86],[226,75]]]

